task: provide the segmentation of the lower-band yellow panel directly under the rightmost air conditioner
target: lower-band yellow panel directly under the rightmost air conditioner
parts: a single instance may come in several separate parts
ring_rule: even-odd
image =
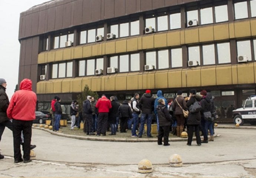
[[[255,83],[253,63],[237,65],[238,84]]]

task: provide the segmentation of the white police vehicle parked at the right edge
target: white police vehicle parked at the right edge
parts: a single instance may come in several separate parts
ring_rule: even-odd
[[[243,125],[244,122],[256,124],[256,95],[250,96],[246,99],[243,108],[235,109],[232,113],[235,124]]]

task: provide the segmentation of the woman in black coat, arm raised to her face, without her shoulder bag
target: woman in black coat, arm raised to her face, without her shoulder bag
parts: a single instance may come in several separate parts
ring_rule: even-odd
[[[196,90],[191,89],[189,91],[190,95],[188,98],[188,102],[186,104],[187,108],[189,108],[191,105],[193,105],[194,102],[200,101],[201,96],[196,95]],[[189,111],[189,109],[188,109]],[[187,145],[190,146],[193,138],[193,129],[195,129],[195,134],[196,134],[196,142],[197,145],[201,145],[201,138],[200,138],[200,123],[201,123],[201,114],[200,111],[196,113],[191,113],[189,112],[188,114],[188,119],[187,119],[187,126],[188,126],[188,142]]]

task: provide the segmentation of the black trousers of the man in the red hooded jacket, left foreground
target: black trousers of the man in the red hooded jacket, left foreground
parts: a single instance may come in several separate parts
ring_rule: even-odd
[[[20,136],[23,131],[24,144],[23,144],[23,159],[30,159],[30,142],[32,135],[32,122],[33,121],[20,121],[13,119],[13,147],[14,147],[14,161],[20,160],[22,154],[20,151]]]

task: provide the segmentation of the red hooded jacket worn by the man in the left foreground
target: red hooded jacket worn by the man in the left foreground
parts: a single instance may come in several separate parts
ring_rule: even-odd
[[[31,121],[36,118],[36,93],[32,91],[32,81],[23,79],[20,90],[16,91],[7,109],[9,119]]]

